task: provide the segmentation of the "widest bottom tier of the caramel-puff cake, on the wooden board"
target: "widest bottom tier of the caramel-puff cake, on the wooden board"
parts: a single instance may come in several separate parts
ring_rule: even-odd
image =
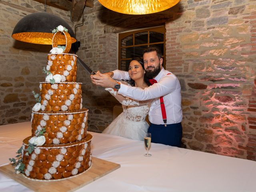
[[[28,140],[23,140],[23,159],[25,164],[24,176],[33,180],[60,180],[76,176],[88,170],[92,164],[91,140],[88,134],[86,139],[72,144],[43,145],[35,147],[31,154],[26,156]]]

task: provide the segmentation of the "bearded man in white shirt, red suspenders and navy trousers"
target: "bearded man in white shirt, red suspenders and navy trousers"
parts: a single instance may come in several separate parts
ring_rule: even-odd
[[[174,74],[162,67],[163,58],[158,48],[146,48],[143,52],[143,60],[146,76],[152,78],[150,80],[152,86],[148,88],[141,89],[120,84],[116,80],[130,78],[128,72],[120,70],[91,75],[92,83],[114,88],[118,90],[118,94],[135,100],[154,99],[148,113],[150,121],[148,132],[151,133],[151,141],[180,147],[182,139],[180,82]]]

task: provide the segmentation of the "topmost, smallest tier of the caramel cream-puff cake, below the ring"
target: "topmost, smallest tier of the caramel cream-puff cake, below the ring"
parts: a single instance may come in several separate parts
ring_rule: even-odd
[[[61,82],[76,82],[76,58],[73,54],[48,54],[46,70],[53,75],[60,74]]]

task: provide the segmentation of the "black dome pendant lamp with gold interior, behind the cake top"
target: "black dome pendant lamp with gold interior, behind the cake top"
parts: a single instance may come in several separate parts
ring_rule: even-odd
[[[46,12],[33,13],[22,18],[14,27],[12,38],[28,43],[51,45],[54,35],[52,30],[59,25],[67,28],[71,42],[76,42],[75,34],[68,23],[62,18]],[[66,44],[64,35],[58,37],[58,44]]]

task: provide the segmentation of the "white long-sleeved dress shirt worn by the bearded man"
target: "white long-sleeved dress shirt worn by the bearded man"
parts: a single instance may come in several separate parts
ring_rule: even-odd
[[[128,72],[114,70],[113,79],[128,80]],[[118,94],[130,97],[135,100],[154,99],[148,113],[149,121],[153,124],[164,124],[160,106],[160,96],[164,96],[164,105],[166,110],[167,124],[179,123],[182,121],[180,82],[178,78],[167,70],[162,70],[154,78],[155,83],[148,88],[142,89],[131,87],[121,83]]]

